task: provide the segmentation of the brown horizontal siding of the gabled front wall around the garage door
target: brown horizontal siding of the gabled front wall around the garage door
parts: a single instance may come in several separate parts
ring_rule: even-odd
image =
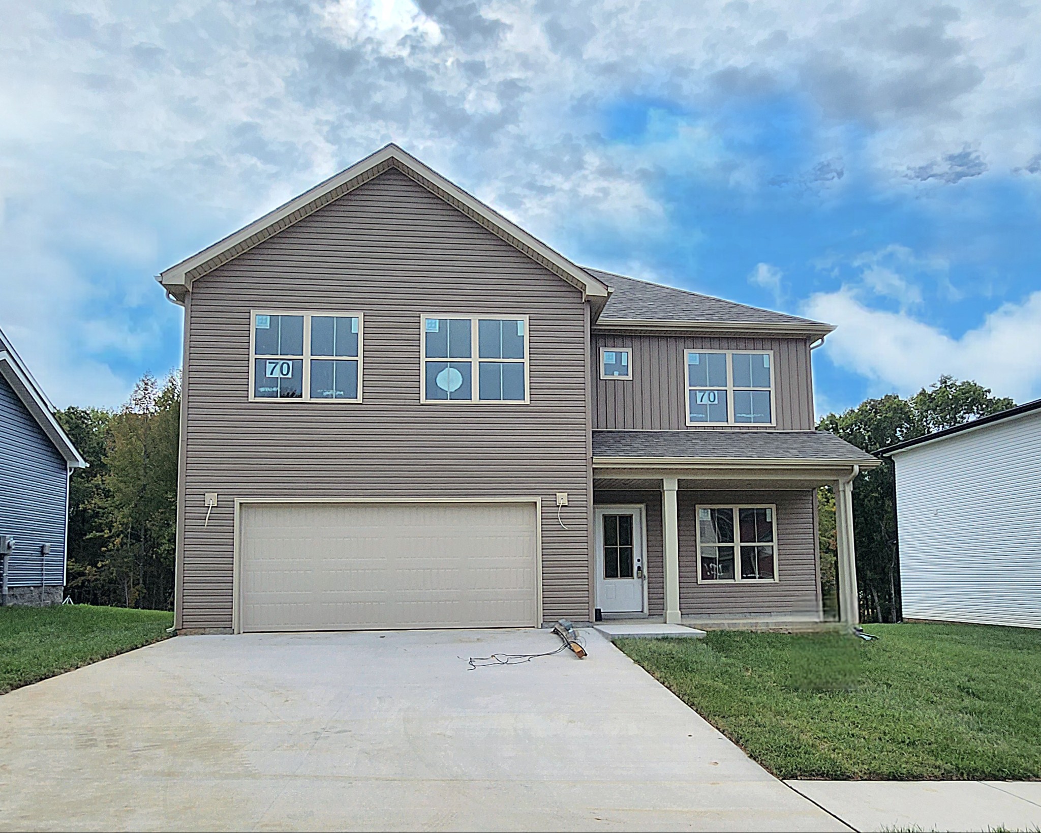
[[[363,313],[363,402],[248,401],[251,309]],[[438,312],[528,315],[530,404],[421,404]],[[541,498],[543,619],[589,619],[580,291],[391,170],[198,279],[185,326],[178,627],[232,625],[235,498]]]

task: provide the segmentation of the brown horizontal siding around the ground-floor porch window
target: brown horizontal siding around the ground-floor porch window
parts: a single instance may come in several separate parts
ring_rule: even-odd
[[[820,615],[814,493],[685,491],[680,525],[680,610],[684,615],[799,613]],[[777,504],[778,582],[697,583],[697,504]]]

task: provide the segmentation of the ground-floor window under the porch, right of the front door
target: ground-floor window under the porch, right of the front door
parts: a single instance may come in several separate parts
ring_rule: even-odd
[[[777,581],[776,506],[699,506],[697,581]]]

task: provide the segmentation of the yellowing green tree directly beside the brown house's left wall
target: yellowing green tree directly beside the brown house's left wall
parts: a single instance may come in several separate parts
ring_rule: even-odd
[[[105,567],[126,607],[173,604],[180,396],[177,374],[161,386],[146,374],[109,421]]]

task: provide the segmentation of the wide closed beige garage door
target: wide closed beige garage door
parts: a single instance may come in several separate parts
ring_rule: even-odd
[[[244,504],[244,631],[538,623],[534,504]]]

